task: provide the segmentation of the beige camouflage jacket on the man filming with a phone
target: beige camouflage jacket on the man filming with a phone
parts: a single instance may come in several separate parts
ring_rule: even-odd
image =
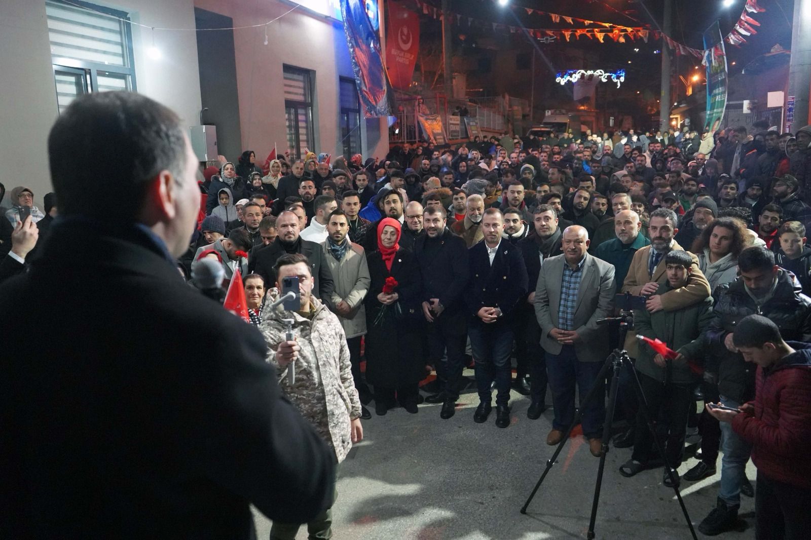
[[[277,298],[277,289],[268,291],[268,302]],[[281,308],[266,309],[259,325],[268,344],[268,362],[276,366],[279,386],[315,431],[332,446],[338,462],[352,448],[350,422],[360,418],[360,399],[354,388],[350,351],[337,315],[315,298],[315,315],[307,319]],[[295,382],[287,382],[287,367],[276,362],[276,349],[285,341],[282,319],[294,319],[293,331],[301,351],[295,362]]]

